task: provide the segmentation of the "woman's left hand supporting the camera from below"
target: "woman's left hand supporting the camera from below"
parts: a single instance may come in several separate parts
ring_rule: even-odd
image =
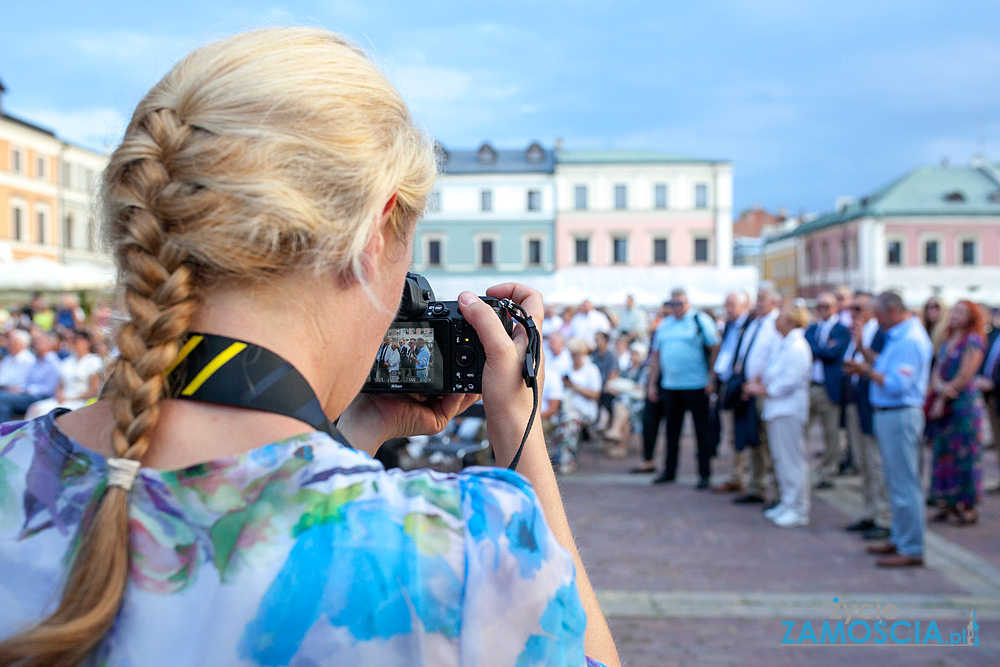
[[[386,440],[440,433],[456,415],[479,400],[478,394],[415,397],[411,394],[358,394],[337,429],[352,447],[374,456]]]

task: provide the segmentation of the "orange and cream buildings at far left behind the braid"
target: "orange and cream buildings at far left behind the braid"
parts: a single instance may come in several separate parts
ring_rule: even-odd
[[[106,163],[0,106],[0,255],[109,264],[98,252],[92,207]]]

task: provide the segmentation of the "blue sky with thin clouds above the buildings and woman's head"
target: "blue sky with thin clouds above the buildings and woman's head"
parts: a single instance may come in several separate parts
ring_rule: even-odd
[[[1000,162],[991,0],[5,4],[3,110],[99,150],[189,50],[309,25],[367,50],[448,148],[729,160],[736,214],[822,213],[919,166]]]

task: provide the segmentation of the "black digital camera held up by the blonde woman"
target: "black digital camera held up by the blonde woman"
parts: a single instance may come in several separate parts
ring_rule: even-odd
[[[479,297],[507,335],[514,322],[498,299]],[[406,274],[396,319],[379,346],[361,391],[370,394],[480,394],[486,353],[457,301],[435,301],[427,278]]]

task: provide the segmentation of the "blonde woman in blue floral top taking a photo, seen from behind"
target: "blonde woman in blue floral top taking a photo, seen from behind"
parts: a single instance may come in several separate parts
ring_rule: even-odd
[[[0,664],[618,663],[540,428],[523,476],[371,457],[477,398],[358,394],[434,177],[395,89],[324,31],[237,35],[153,87],[103,180],[129,317],[103,398],[0,432]],[[489,294],[541,320],[537,292]],[[459,303],[507,464],[525,333]],[[226,339],[287,362],[337,429],[166,393],[179,352]]]

